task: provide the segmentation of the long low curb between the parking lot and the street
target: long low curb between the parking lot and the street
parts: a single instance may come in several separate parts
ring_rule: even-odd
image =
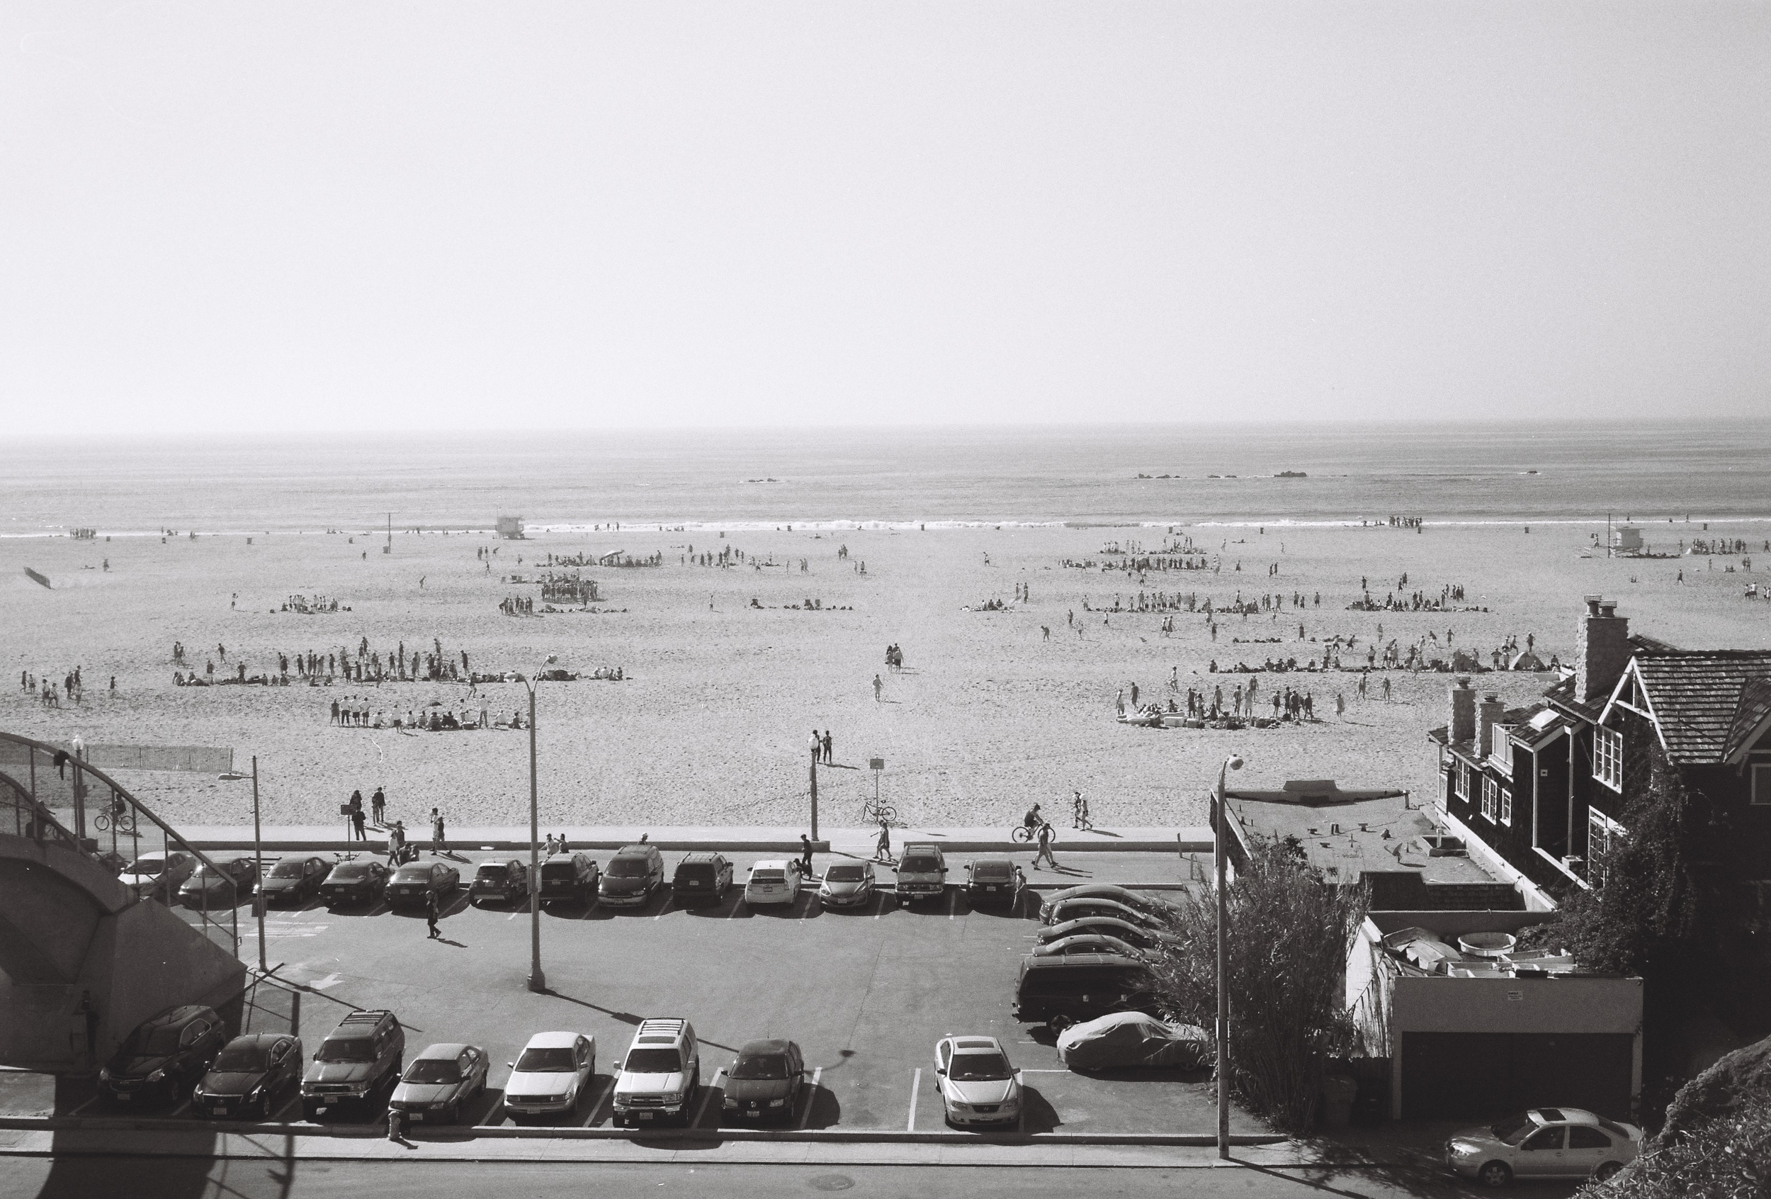
[[[381,1141],[383,1125],[276,1125],[225,1119],[117,1119],[101,1116],[0,1116],[0,1128],[18,1132],[220,1132],[236,1135],[322,1137],[335,1141]],[[762,1141],[809,1144],[986,1144],[986,1146],[1041,1146],[1041,1144],[1100,1144],[1100,1146],[1215,1146],[1211,1132],[1001,1132],[976,1133],[953,1128],[928,1132],[896,1132],[891,1128],[574,1128],[574,1126],[505,1126],[469,1125],[464,1128],[407,1126],[407,1141],[453,1144],[460,1141],[629,1141],[671,1144],[705,1144],[708,1141]],[[1289,1137],[1279,1133],[1231,1133],[1233,1146],[1284,1144]]]

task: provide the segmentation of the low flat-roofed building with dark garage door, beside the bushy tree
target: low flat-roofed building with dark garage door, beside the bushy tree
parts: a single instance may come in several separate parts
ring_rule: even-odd
[[[1482,1119],[1573,1103],[1628,1119],[1642,1095],[1642,979],[1521,953],[1550,919],[1482,866],[1443,815],[1399,790],[1289,781],[1224,793],[1226,850],[1250,834],[1296,845],[1369,912],[1342,978],[1360,1107],[1380,1119]]]

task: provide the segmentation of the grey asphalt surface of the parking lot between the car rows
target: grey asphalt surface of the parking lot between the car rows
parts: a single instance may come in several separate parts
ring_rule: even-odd
[[[478,861],[508,855],[462,857],[457,864],[466,882]],[[668,855],[668,866],[677,857]],[[818,859],[820,873],[825,861]],[[788,1125],[845,1130],[940,1128],[935,1041],[949,1033],[992,1034],[1024,1071],[1025,1132],[1215,1128],[1206,1071],[1077,1075],[1059,1061],[1048,1033],[1009,1017],[1017,969],[1038,928],[1034,893],[1011,912],[972,910],[956,886],[916,909],[880,894],[861,910],[822,910],[811,889],[786,909],[751,909],[740,898],[749,863],[735,861],[737,886],[717,905],[684,909],[666,887],[645,909],[544,912],[547,994],[526,988],[526,903],[476,909],[462,891],[445,912],[441,940],[427,939],[421,914],[393,912],[383,901],[273,909],[266,953],[280,963],[276,978],[298,990],[255,988],[248,1031],[294,1022],[312,1052],[349,1008],[391,1008],[407,1029],[407,1059],[436,1041],[483,1045],[494,1063],[491,1087],[464,1119],[476,1125],[503,1123],[505,1063],[531,1033],[588,1033],[597,1041],[597,1079],[570,1123],[606,1126],[611,1066],[627,1052],[638,1022],[685,1017],[703,1047],[696,1126],[717,1126],[723,1070],[737,1048],[774,1036],[799,1041],[813,1071]],[[949,880],[962,878],[960,861],[951,866]],[[1181,866],[1171,855],[1146,873],[1172,882]],[[889,870],[880,871],[880,884],[891,886]],[[251,960],[257,930],[246,907],[241,932],[241,953]],[[81,1107],[103,1110],[101,1102]],[[290,1098],[280,1118],[299,1116]],[[1233,1128],[1261,1132],[1240,1112]]]

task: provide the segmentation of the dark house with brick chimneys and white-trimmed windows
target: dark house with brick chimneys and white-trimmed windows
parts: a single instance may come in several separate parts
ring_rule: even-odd
[[[1590,595],[1573,671],[1543,700],[1507,708],[1450,689],[1435,806],[1532,907],[1605,878],[1610,845],[1659,751],[1725,834],[1705,850],[1728,956],[1746,992],[1771,985],[1771,650],[1681,650],[1629,632]]]

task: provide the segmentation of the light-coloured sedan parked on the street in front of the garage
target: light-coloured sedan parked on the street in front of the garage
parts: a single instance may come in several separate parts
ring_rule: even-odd
[[[1534,1107],[1488,1128],[1454,1132],[1445,1165],[1505,1187],[1514,1178],[1606,1180],[1642,1149],[1642,1130],[1578,1107]]]

